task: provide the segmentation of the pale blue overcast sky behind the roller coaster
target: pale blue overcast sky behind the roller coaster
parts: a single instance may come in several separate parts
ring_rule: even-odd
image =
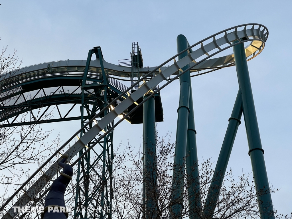
[[[104,59],[130,58],[131,43],[141,46],[144,66],[157,66],[176,54],[176,37],[194,44],[221,30],[260,23],[269,30],[263,52],[248,62],[253,97],[274,208],[292,211],[292,1],[15,1],[0,0],[0,46],[18,51],[23,66],[54,60],[85,60],[101,46]],[[238,91],[235,67],[192,78],[199,161],[217,161]],[[161,91],[164,122],[159,134],[175,141],[179,83]],[[78,112],[76,112],[78,113]],[[243,121],[242,117],[242,121]],[[63,142],[79,121],[46,124]],[[142,124],[123,121],[114,131],[119,142],[140,147]],[[215,167],[215,164],[214,164]],[[239,126],[228,169],[250,173],[244,122]]]

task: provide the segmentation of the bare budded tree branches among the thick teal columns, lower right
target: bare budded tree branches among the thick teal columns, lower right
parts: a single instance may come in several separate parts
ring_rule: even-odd
[[[219,188],[219,198],[215,203],[215,211],[210,216],[204,212],[204,204],[209,192],[209,187],[214,174],[210,159],[203,161],[199,165],[199,192],[189,193],[189,187],[196,183],[191,176],[184,174],[184,190],[179,199],[173,199],[173,169],[179,168],[173,166],[172,159],[175,144],[170,142],[170,136],[157,138],[157,161],[152,169],[156,169],[156,182],[145,182],[153,177],[143,172],[142,153],[137,152],[129,144],[126,146],[125,163],[121,163],[119,171],[122,174],[114,178],[114,206],[113,213],[116,218],[159,218],[166,219],[172,214],[172,206],[180,205],[181,218],[260,218],[257,197],[261,194],[256,192],[251,174],[242,173],[238,178],[234,178],[232,170],[223,176],[223,185]],[[136,152],[135,152],[136,151]],[[198,164],[194,164],[198,165]],[[195,168],[194,168],[195,169]],[[153,174],[153,173],[152,173]],[[154,202],[152,211],[147,210],[147,204],[143,201],[143,180],[145,182],[146,197],[150,197]],[[147,185],[150,187],[147,188]],[[156,189],[153,189],[155,185]],[[268,192],[277,190],[269,188]],[[201,204],[190,208],[189,198],[199,200]],[[146,200],[147,202],[147,200]],[[209,203],[212,204],[212,203]],[[190,211],[192,209],[192,211]],[[276,218],[291,218],[291,215],[278,214],[273,212]],[[176,218],[172,214],[172,218]]]

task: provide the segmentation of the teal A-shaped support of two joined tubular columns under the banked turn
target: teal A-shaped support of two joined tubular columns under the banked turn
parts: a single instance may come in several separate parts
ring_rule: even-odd
[[[238,42],[239,41],[234,41],[232,43],[235,44]],[[211,180],[203,215],[204,218],[213,217],[237,129],[241,123],[241,115],[243,113],[249,147],[248,155],[251,158],[260,217],[262,219],[271,219],[274,218],[274,210],[263,156],[264,150],[260,140],[260,132],[253,101],[244,44],[241,43],[233,46],[233,51],[239,82],[239,91],[237,93],[231,117],[228,120],[229,124],[214,170],[214,175]]]

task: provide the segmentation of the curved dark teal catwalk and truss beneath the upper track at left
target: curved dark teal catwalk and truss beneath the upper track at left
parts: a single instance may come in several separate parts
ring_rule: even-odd
[[[9,90],[1,93],[0,105],[0,122],[5,122],[2,126],[18,126],[39,124],[57,121],[80,120],[80,117],[70,116],[70,112],[77,104],[81,104],[81,82],[82,75],[67,76],[50,76],[46,79],[30,79],[24,83],[18,84]],[[102,85],[102,76],[99,74],[89,75],[87,77],[91,84],[98,86]],[[107,77],[108,88],[115,98],[128,87],[121,84],[119,81]],[[85,99],[89,104],[98,97],[92,98],[92,95],[99,96],[96,89],[88,89],[85,91]],[[126,95],[124,97],[127,97]],[[121,99],[123,100],[123,99]],[[58,105],[73,104],[72,108],[61,115]],[[25,112],[31,112],[34,109],[44,108],[46,113],[53,107],[57,107],[60,118],[58,119],[43,119],[45,114],[33,115],[32,121],[18,121],[18,116]],[[69,116],[68,116],[69,114]],[[13,118],[13,119],[11,119]]]

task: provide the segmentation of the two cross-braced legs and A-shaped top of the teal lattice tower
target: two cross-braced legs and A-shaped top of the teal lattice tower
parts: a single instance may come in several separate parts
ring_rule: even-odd
[[[103,88],[100,90],[98,89],[98,92],[100,96],[104,95],[103,98],[103,103],[102,105],[98,106],[99,109],[103,109],[103,107],[105,107],[107,105],[107,99],[108,99],[108,95],[107,92],[108,90],[108,85],[107,85],[107,75],[105,74],[105,69],[103,66],[103,61],[102,61],[102,52],[101,52],[101,48],[98,47],[94,47],[93,49],[90,49],[88,51],[88,56],[87,56],[87,61],[86,61],[86,66],[84,69],[84,76],[83,76],[83,80],[82,80],[82,85],[81,85],[81,127],[84,125],[84,122],[88,119],[89,120],[89,113],[88,113],[88,117],[84,117],[84,108],[86,110],[88,110],[89,112],[89,106],[86,105],[84,103],[84,95],[86,94],[85,91],[87,89],[92,89],[93,86],[95,86],[94,84],[86,84],[86,80],[87,80],[87,74],[88,71],[90,69],[90,62],[91,62],[91,57],[92,54],[95,53],[96,58],[99,59],[100,61],[100,67],[101,67],[101,72],[102,74],[100,75],[100,78],[102,77],[102,84],[103,84]],[[95,91],[96,92],[96,91]],[[95,109],[95,107],[93,107],[93,109]],[[95,111],[95,110],[92,110]],[[100,117],[104,117],[107,114],[108,110],[104,111],[104,115],[100,116]],[[112,122],[113,124],[113,122]],[[104,128],[104,131],[107,131],[107,128],[110,127],[107,126]],[[89,125],[89,128],[92,128],[92,124]],[[82,135],[86,132],[86,130],[81,131],[80,133],[80,137],[82,137]],[[110,138],[110,141],[108,140],[108,138]],[[102,149],[102,157],[98,158],[100,160],[102,160],[102,183],[100,188],[98,188],[99,190],[101,190],[101,194],[100,194],[100,207],[101,207],[101,212],[100,212],[100,218],[104,219],[106,216],[107,218],[112,218],[112,214],[110,212],[107,212],[105,209],[109,208],[110,210],[112,209],[112,198],[113,198],[113,188],[112,188],[112,159],[114,157],[114,153],[113,153],[113,148],[112,148],[112,140],[113,140],[113,133],[110,133],[109,135],[105,136],[103,138],[103,144]],[[109,142],[110,142],[110,147],[111,147],[111,152],[109,154]],[[101,143],[101,142],[100,142]],[[88,143],[88,147],[90,147],[91,142]],[[86,146],[87,147],[87,146]],[[84,150],[86,150],[85,148],[83,148]],[[83,149],[79,152],[79,156],[81,156],[83,154]],[[108,157],[106,157],[106,154],[108,155]],[[108,158],[108,160],[106,161],[106,158]],[[84,164],[84,161],[86,161],[87,165]],[[94,161],[95,162],[95,161]],[[106,164],[108,166],[106,166]],[[108,196],[108,185],[107,185],[107,177],[106,177],[106,167],[108,167],[109,169],[109,180],[110,180],[110,188],[109,188],[109,196]],[[83,176],[81,176],[81,168],[82,168],[82,173]],[[87,154],[85,155],[84,158],[80,159],[78,161],[78,172],[77,172],[77,187],[76,187],[76,197],[75,197],[75,209],[74,209],[74,218],[87,218],[88,217],[88,212],[85,211],[85,214],[82,215],[82,212],[77,213],[77,207],[79,207],[81,209],[82,206],[87,207],[88,204],[91,203],[91,197],[89,197],[89,193],[92,192],[89,190],[89,182],[90,182],[90,172],[91,172],[91,165],[90,165],[90,151],[87,152]],[[85,171],[86,170],[86,171]],[[80,181],[83,180],[84,183],[82,183],[82,185],[84,184],[84,190],[80,189]],[[81,192],[82,195],[85,195],[85,200],[81,199]],[[83,202],[83,203],[82,203]],[[92,203],[91,203],[92,204]]]

